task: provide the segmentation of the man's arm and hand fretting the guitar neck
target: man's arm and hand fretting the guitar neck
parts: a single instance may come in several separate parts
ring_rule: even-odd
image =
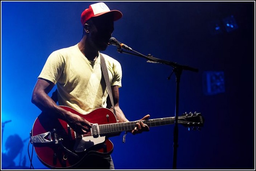
[[[112,94],[113,94],[113,100],[115,105],[115,112],[118,122],[129,122],[129,120],[125,117],[125,114],[123,114],[123,111],[119,107],[119,88],[118,86],[111,86]],[[111,106],[110,99],[107,100],[107,106],[110,108],[111,111],[113,111],[113,108]],[[146,120],[149,119],[150,115],[146,115],[140,120]],[[137,126],[134,128],[134,130],[131,131],[132,134],[141,133],[142,131],[149,131],[149,126],[144,124],[142,121],[138,122],[136,124]]]

